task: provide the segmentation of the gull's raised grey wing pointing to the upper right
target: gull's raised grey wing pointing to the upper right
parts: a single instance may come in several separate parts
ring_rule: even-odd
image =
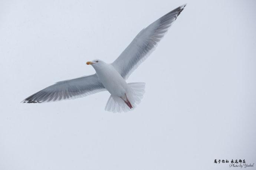
[[[129,46],[112,63],[124,79],[127,79],[132,71],[137,69],[155,49],[157,43],[163,38],[185,6],[186,4],[174,9],[141,30]]]

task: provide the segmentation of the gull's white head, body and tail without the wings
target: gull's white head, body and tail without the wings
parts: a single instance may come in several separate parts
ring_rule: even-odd
[[[140,102],[144,94],[145,83],[127,84],[112,64],[105,63],[99,59],[87,62],[87,64],[92,65],[99,80],[111,94],[109,101],[113,100],[114,103],[112,101],[110,103],[108,102],[105,107],[106,110],[108,107],[109,109],[114,107],[116,110],[114,109],[112,111],[127,111],[125,104],[132,109]],[[137,93],[134,93],[134,90],[137,90]]]

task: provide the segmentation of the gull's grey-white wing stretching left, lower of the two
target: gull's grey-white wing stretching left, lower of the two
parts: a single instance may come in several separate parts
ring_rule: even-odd
[[[76,99],[93,93],[105,91],[104,85],[96,74],[83,76],[76,79],[59,81],[52,86],[27,97],[23,103],[43,103],[65,99]]]

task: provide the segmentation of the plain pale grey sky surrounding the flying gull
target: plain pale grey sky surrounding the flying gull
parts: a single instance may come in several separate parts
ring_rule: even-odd
[[[188,3],[127,82],[146,82],[131,112],[109,93],[21,104],[94,73],[137,33]],[[256,163],[255,1],[0,1],[1,170],[230,169]]]

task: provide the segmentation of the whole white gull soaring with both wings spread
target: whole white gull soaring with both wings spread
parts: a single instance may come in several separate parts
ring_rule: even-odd
[[[86,62],[95,74],[56,82],[27,97],[22,103],[46,103],[76,99],[109,91],[105,110],[113,113],[134,110],[145,93],[144,82],[127,83],[129,75],[154,51],[159,41],[187,4],[170,11],[142,29],[113,63],[100,59]]]

